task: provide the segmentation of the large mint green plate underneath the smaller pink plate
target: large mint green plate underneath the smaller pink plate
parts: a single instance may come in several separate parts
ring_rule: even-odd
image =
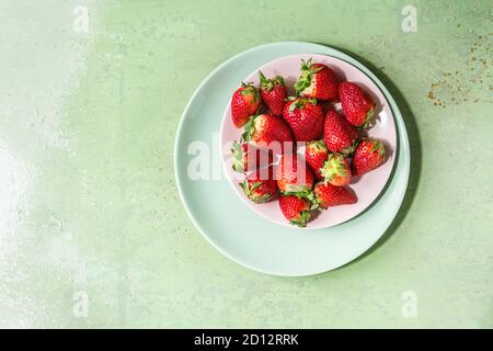
[[[398,128],[394,170],[379,199],[357,217],[310,231],[274,224],[245,207],[222,172],[218,133],[230,93],[262,65],[286,55],[313,53],[343,59],[381,89]],[[197,143],[198,141],[198,143]],[[188,168],[196,148],[208,146],[208,179],[194,180]],[[410,149],[402,115],[380,80],[354,58],[331,47],[300,42],[274,43],[241,53],[217,67],[197,88],[176,133],[174,167],[185,208],[204,237],[231,260],[252,270],[284,276],[318,274],[344,265],[368,250],[390,226],[408,186]]]

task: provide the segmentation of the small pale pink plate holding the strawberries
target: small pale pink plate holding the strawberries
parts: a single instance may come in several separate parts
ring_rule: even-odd
[[[376,123],[375,126],[367,132],[367,134],[369,137],[375,137],[383,141],[387,148],[388,157],[387,161],[374,171],[358,178],[353,178],[349,186],[358,199],[357,203],[353,205],[331,207],[319,214],[314,214],[312,219],[308,223],[307,228],[316,229],[332,227],[349,220],[365,211],[365,208],[367,208],[377,199],[392,172],[397,148],[397,134],[392,111],[381,91],[363,71],[344,60],[316,54],[291,55],[275,59],[259,69],[262,70],[267,78],[272,78],[277,75],[284,77],[289,93],[293,93],[293,86],[299,77],[301,59],[307,60],[310,57],[313,58],[313,63],[321,63],[329,66],[339,75],[340,79],[358,83],[374,98],[374,101],[377,102]],[[255,70],[248,76],[244,81],[253,81],[255,86],[259,86],[259,70]],[[336,110],[340,110],[340,104],[336,104],[335,107]],[[237,173],[231,169],[230,147],[233,140],[240,139],[242,132],[243,128],[238,129],[234,127],[231,120],[231,104],[228,103],[222,117],[220,131],[220,148],[227,178],[237,194],[243,199],[248,207],[264,218],[280,225],[289,226],[287,219],[280,212],[278,201],[272,201],[265,204],[254,204],[246,199],[241,186],[238,185],[238,183],[243,181],[244,176]],[[303,151],[305,150],[299,150],[299,152]]]

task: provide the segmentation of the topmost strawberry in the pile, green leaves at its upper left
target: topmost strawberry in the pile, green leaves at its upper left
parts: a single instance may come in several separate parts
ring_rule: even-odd
[[[295,84],[298,94],[319,100],[337,99],[337,75],[322,64],[312,64],[311,58],[301,60],[301,76]]]

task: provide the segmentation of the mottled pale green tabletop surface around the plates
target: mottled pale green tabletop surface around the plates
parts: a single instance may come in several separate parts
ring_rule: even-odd
[[[401,29],[406,4],[414,33]],[[492,27],[489,0],[0,1],[0,326],[493,327]],[[173,176],[197,84],[278,41],[362,59],[411,138],[383,240],[311,278],[222,257]]]

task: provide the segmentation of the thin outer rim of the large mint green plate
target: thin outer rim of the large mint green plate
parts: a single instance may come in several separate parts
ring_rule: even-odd
[[[265,49],[266,47],[270,47],[270,46],[298,46],[298,45],[307,45],[307,46],[311,46],[311,47],[313,48],[313,50],[320,49],[320,50],[322,50],[322,52],[329,48],[329,49],[331,49],[331,50],[336,52],[336,53],[337,53],[339,55],[341,55],[341,57],[343,57],[345,60],[348,60],[349,63],[354,60],[354,61],[356,61],[357,64],[362,65],[363,67],[365,67],[365,68],[367,69],[366,73],[367,73],[367,75],[369,76],[369,78],[370,78],[371,80],[374,80],[374,81],[379,86],[379,88],[383,91],[383,94],[386,95],[387,99],[389,99],[389,102],[390,102],[390,104],[392,105],[391,107],[392,107],[392,109],[393,109],[393,107],[397,109],[395,115],[399,115],[399,117],[400,117],[400,120],[401,120],[401,122],[402,122],[402,123],[399,123],[399,126],[398,126],[398,136],[399,136],[399,137],[398,137],[398,140],[401,140],[402,144],[403,144],[403,145],[402,145],[403,147],[400,148],[399,152],[401,152],[401,151],[404,152],[405,161],[406,161],[406,162],[403,165],[403,167],[404,167],[404,174],[403,174],[403,176],[404,176],[404,183],[403,183],[403,185],[402,185],[402,186],[403,186],[403,191],[402,191],[402,193],[400,194],[399,199],[395,201],[395,211],[394,211],[394,213],[392,214],[392,219],[388,223],[387,227],[386,227],[385,229],[382,229],[381,234],[380,234],[377,238],[375,238],[374,240],[370,240],[370,241],[368,242],[368,245],[365,246],[364,249],[363,249],[358,254],[354,256],[353,258],[346,260],[345,262],[343,262],[343,263],[341,263],[341,264],[339,264],[339,265],[336,265],[336,267],[333,267],[333,268],[325,268],[325,269],[320,269],[320,270],[312,271],[312,272],[309,272],[309,273],[296,273],[296,274],[293,274],[293,273],[278,272],[278,271],[274,271],[274,270],[267,270],[267,269],[263,269],[263,268],[256,267],[256,265],[254,265],[254,264],[251,264],[250,262],[244,262],[244,261],[242,261],[242,260],[240,260],[240,259],[233,257],[232,254],[230,254],[229,252],[227,252],[225,249],[222,249],[218,244],[216,244],[215,240],[214,240],[214,239],[213,239],[213,238],[211,238],[211,237],[203,229],[203,227],[198,224],[198,222],[197,222],[195,215],[192,213],[192,211],[191,211],[191,208],[190,208],[188,202],[187,202],[187,200],[185,199],[185,196],[184,196],[184,194],[183,194],[183,190],[182,190],[182,185],[183,185],[183,184],[182,184],[182,181],[181,181],[181,179],[180,179],[180,177],[179,177],[179,167],[177,167],[177,163],[179,163],[179,145],[180,145],[181,139],[183,138],[181,131],[182,131],[183,125],[184,125],[184,123],[185,123],[185,122],[184,122],[184,121],[185,121],[184,117],[187,115],[187,113],[188,113],[188,111],[190,111],[190,109],[191,109],[191,106],[192,106],[192,102],[195,100],[196,95],[199,93],[199,91],[202,90],[202,88],[203,88],[205,84],[207,84],[207,82],[210,80],[210,78],[211,78],[213,76],[215,76],[219,70],[221,70],[225,66],[229,65],[231,61],[238,59],[239,57],[241,57],[241,56],[243,56],[243,55],[248,55],[248,54],[250,54],[250,53],[252,53],[252,52],[255,52],[255,50],[262,50],[262,49]],[[401,138],[402,138],[402,139],[401,139]],[[398,143],[398,145],[399,145],[399,144],[400,144],[400,143]],[[399,146],[399,147],[400,147],[400,146]],[[369,248],[371,248],[372,246],[375,246],[376,242],[378,242],[378,240],[383,236],[383,234],[386,233],[386,230],[391,226],[391,224],[392,224],[393,220],[395,219],[395,216],[397,216],[397,214],[398,214],[398,212],[399,212],[399,208],[400,208],[401,205],[402,205],[402,201],[403,201],[403,199],[404,199],[404,196],[405,196],[405,193],[406,193],[406,189],[408,189],[408,185],[409,185],[410,166],[411,166],[411,152],[410,152],[409,136],[408,136],[405,123],[404,123],[404,121],[403,121],[403,118],[402,118],[402,113],[400,112],[399,106],[398,106],[395,100],[394,100],[393,97],[390,94],[390,92],[388,91],[387,87],[380,81],[380,79],[378,79],[378,78],[375,76],[375,73],[374,73],[370,69],[368,69],[365,65],[363,65],[362,63],[359,63],[356,58],[353,58],[352,56],[349,56],[349,55],[347,55],[347,54],[341,52],[341,50],[337,49],[337,48],[331,47],[331,46],[329,46],[329,45],[321,45],[321,44],[310,43],[310,42],[297,42],[297,41],[294,41],[294,42],[290,42],[290,41],[287,41],[287,42],[286,42],[286,41],[285,41],[285,42],[274,42],[274,43],[267,43],[267,44],[263,44],[263,45],[257,45],[257,46],[251,47],[251,48],[249,48],[249,49],[246,49],[246,50],[243,50],[243,52],[241,52],[241,53],[238,53],[238,54],[231,56],[230,58],[228,58],[227,60],[225,60],[223,63],[221,63],[220,65],[218,65],[215,69],[213,69],[213,70],[211,70],[211,71],[210,71],[210,72],[202,80],[202,82],[197,86],[197,88],[194,90],[193,94],[192,94],[191,98],[188,99],[188,101],[187,101],[187,103],[186,103],[186,105],[185,105],[185,107],[184,107],[184,110],[183,110],[183,113],[182,113],[181,118],[180,118],[180,122],[179,122],[179,126],[177,126],[177,128],[176,128],[175,144],[174,144],[173,152],[174,152],[174,157],[173,157],[174,178],[175,178],[175,183],[176,183],[176,188],[177,188],[177,191],[179,191],[180,200],[182,201],[183,206],[185,207],[185,212],[187,213],[188,218],[192,220],[192,223],[194,224],[194,226],[196,227],[196,229],[200,233],[200,235],[202,235],[202,236],[203,236],[203,237],[204,237],[204,238],[205,238],[205,239],[206,239],[206,240],[207,240],[207,241],[208,241],[216,250],[218,250],[219,252],[221,252],[225,257],[229,258],[231,261],[236,262],[237,264],[242,265],[242,267],[244,267],[244,268],[248,268],[248,269],[250,269],[250,270],[253,270],[253,271],[256,271],[256,272],[261,272],[261,273],[264,273],[264,274],[268,274],[268,275],[273,275],[273,276],[311,276],[311,275],[317,275],[317,274],[325,273],[325,272],[336,270],[336,269],[339,269],[339,268],[341,268],[341,267],[344,267],[344,265],[346,265],[346,264],[353,262],[355,259],[357,259],[357,258],[360,257],[363,253],[365,253],[366,251],[368,251]],[[399,157],[399,156],[398,156],[398,157]],[[399,163],[399,159],[397,159],[397,162]],[[394,167],[394,171],[397,170],[397,167],[398,167],[398,166]],[[390,182],[389,182],[387,185],[389,185],[389,184],[390,184]]]

